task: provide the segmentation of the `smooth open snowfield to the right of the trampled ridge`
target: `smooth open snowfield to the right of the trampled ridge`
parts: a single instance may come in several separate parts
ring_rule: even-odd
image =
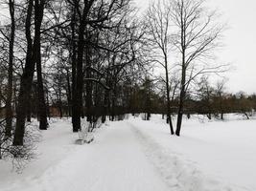
[[[213,178],[230,190],[256,190],[256,120],[235,120],[235,115],[226,118],[185,118],[180,138],[170,138],[160,116],[151,122],[133,119],[131,123],[151,142],[161,145],[165,153],[200,171],[201,176]]]

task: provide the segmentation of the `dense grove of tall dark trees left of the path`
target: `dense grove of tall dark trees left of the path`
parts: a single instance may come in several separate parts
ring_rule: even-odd
[[[104,122],[125,108],[119,96],[127,94],[126,83],[132,86],[147,69],[139,52],[144,32],[129,0],[2,3],[12,16],[0,29],[0,60],[7,137],[16,117],[13,145],[23,144],[26,119],[35,113],[39,129],[46,130],[54,104],[61,113],[67,103],[74,132],[81,117]]]

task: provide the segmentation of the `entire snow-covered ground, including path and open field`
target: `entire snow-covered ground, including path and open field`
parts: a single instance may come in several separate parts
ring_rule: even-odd
[[[76,145],[68,120],[42,132],[38,159],[22,174],[0,160],[1,191],[254,191],[256,120],[184,121],[171,137],[160,116],[108,122]]]

